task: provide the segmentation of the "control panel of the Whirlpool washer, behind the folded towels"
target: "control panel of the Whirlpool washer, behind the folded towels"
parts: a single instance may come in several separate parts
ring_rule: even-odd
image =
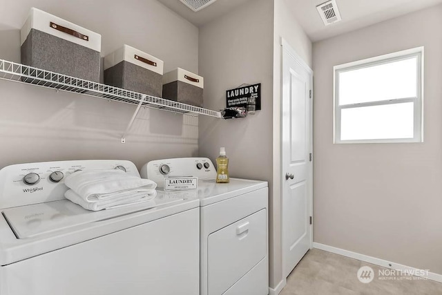
[[[78,160],[15,164],[0,170],[0,209],[63,200],[66,176],[82,170],[118,169],[140,176],[133,162]]]

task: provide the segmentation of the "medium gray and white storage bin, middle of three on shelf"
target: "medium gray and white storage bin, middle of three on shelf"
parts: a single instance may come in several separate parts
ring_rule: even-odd
[[[164,63],[131,46],[104,57],[104,84],[162,97]]]

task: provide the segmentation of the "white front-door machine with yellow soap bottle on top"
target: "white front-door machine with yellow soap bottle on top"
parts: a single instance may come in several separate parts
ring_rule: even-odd
[[[217,184],[208,158],[151,161],[141,175],[160,188],[166,177],[198,177],[193,193],[200,199],[201,295],[269,293],[267,182],[230,178]]]

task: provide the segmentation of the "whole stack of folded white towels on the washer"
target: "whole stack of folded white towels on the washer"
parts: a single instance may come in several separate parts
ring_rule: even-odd
[[[84,209],[99,211],[155,198],[157,184],[119,170],[78,171],[65,180],[65,197]],[[155,207],[155,204],[153,205]]]

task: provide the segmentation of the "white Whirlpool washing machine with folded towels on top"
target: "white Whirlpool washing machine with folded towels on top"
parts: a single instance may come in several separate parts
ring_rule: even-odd
[[[151,202],[87,211],[64,199],[64,176],[79,169],[140,175],[118,160],[0,170],[0,295],[198,294],[199,200],[160,192]]]

